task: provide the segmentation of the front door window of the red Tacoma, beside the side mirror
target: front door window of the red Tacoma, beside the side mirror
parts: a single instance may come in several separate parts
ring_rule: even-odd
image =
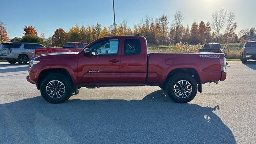
[[[102,40],[90,46],[90,55],[117,55],[118,39]]]

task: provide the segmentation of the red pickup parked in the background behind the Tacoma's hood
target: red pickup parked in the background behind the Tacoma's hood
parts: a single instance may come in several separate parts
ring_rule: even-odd
[[[67,42],[63,45],[63,48],[36,48],[35,54],[49,54],[52,52],[80,52],[87,43],[82,42]]]

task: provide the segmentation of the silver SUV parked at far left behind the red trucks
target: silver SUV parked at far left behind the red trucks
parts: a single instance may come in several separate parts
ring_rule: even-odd
[[[2,43],[0,46],[0,59],[7,60],[10,64],[26,64],[35,55],[35,48],[42,48],[42,44],[34,43]]]

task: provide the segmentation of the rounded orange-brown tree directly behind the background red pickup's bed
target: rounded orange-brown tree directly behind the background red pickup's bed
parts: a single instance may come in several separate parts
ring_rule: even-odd
[[[56,29],[52,35],[52,44],[57,47],[62,47],[67,42],[68,34],[62,28]]]

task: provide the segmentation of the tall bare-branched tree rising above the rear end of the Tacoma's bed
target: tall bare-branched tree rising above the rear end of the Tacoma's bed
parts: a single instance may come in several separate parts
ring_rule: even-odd
[[[216,42],[219,42],[220,30],[226,25],[226,10],[219,10],[212,14],[212,29],[216,33]]]

